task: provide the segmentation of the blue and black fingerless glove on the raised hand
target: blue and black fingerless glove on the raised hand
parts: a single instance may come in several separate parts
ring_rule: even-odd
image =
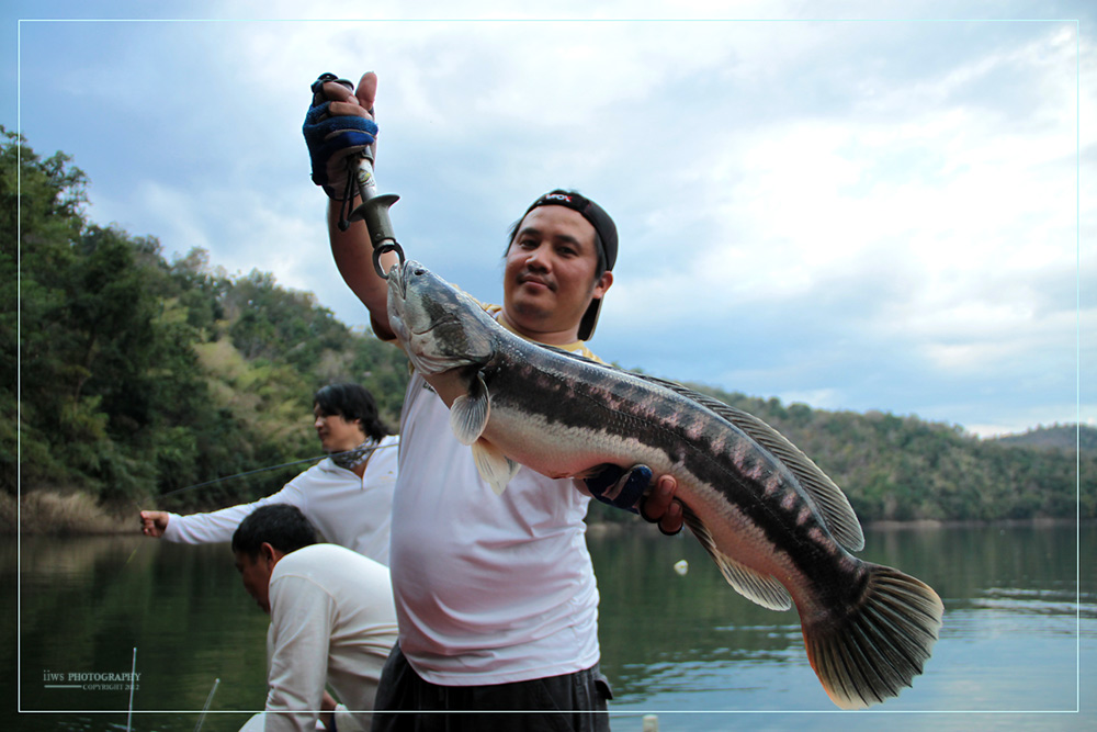
[[[324,85],[328,81],[341,83],[351,91],[354,89],[354,85],[347,79],[340,79],[335,74],[321,74],[313,82],[313,102],[305,114],[302,133],[313,162],[313,182],[324,187],[328,198],[346,201],[353,198],[347,160],[376,142],[377,124],[352,114],[329,115],[331,102],[324,97]]]

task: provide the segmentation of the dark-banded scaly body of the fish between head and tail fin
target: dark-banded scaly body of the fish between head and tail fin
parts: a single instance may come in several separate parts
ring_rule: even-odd
[[[825,613],[833,601],[819,594],[863,582],[864,564],[791,471],[730,420],[668,386],[507,336],[480,372],[491,416],[479,439],[498,452],[551,477],[607,464],[672,475],[690,528],[703,528],[732,584],[771,609],[789,607],[783,587],[802,610]]]

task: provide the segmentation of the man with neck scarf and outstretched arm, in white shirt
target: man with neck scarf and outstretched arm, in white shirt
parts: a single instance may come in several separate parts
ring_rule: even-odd
[[[373,395],[358,384],[318,390],[313,416],[320,446],[330,457],[251,504],[190,516],[143,510],[144,533],[188,544],[228,541],[259,506],[291,504],[326,541],[388,566],[397,438],[381,420]]]

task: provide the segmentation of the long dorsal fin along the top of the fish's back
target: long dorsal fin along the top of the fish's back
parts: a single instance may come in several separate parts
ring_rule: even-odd
[[[804,487],[812,497],[812,500],[815,502],[815,505],[818,506],[827,530],[830,531],[838,543],[852,552],[864,549],[864,533],[861,531],[861,522],[857,520],[857,514],[853,513],[853,507],[849,505],[846,494],[835,485],[834,481],[826,473],[819,470],[819,466],[811,458],[805,455],[800,448],[790,442],[783,435],[761,419],[758,419],[758,417],[724,404],[715,397],[700,394],[666,379],[637,375],[653,383],[661,384],[712,409],[742,429],[755,442],[769,450],[800,481],[800,485]]]

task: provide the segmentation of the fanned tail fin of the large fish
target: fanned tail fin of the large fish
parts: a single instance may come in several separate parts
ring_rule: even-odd
[[[867,564],[869,577],[840,619],[804,623],[807,660],[830,700],[861,709],[897,696],[929,658],[945,606],[924,582]]]

